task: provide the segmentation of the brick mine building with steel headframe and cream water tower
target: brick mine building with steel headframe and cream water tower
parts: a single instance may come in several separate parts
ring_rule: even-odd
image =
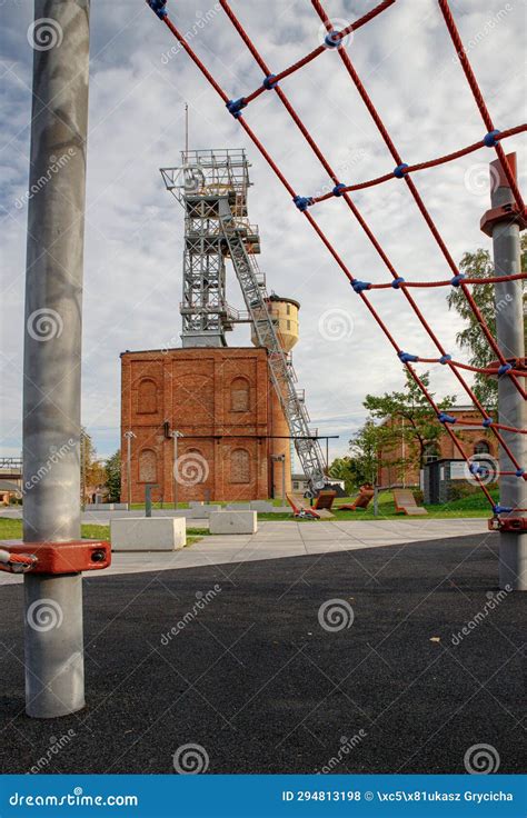
[[[281,497],[291,443],[312,490],[325,483],[291,358],[300,305],[267,291],[248,169],[243,150],[185,151],[161,169],[185,211],[182,346],[121,355],[123,500],[142,502],[148,485],[167,502]],[[228,262],[245,311],[227,301]],[[238,323],[252,346],[228,347]]]

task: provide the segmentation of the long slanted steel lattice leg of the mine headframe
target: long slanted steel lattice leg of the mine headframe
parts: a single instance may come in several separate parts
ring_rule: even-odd
[[[295,388],[297,377],[292,362],[284,352],[267,308],[268,293],[265,279],[256,259],[247,252],[242,231],[237,227],[228,197],[219,198],[218,206],[221,231],[247,310],[259,345],[266,347],[269,352],[271,380],[284,409],[304,473],[309,480],[311,491],[316,492],[326,485],[322,450],[318,440],[312,439],[308,411]]]

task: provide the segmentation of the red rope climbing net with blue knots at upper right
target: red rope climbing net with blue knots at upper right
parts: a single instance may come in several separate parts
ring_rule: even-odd
[[[501,130],[501,131],[495,128],[493,118],[489,113],[489,110],[483,97],[481,90],[478,86],[476,76],[473,71],[470,61],[468,59],[467,51],[464,48],[459,31],[457,29],[456,22],[454,20],[453,13],[448,4],[448,0],[438,0],[439,8],[441,11],[443,18],[445,20],[445,24],[447,27],[453,44],[456,49],[456,52],[457,52],[460,66],[463,68],[463,71],[465,73],[465,77],[467,79],[467,82],[470,87],[475,102],[477,104],[480,117],[483,119],[486,132],[484,133],[483,138],[479,141],[473,142],[471,144],[460,150],[457,150],[453,153],[448,153],[446,156],[441,156],[430,161],[420,162],[417,164],[406,163],[402,160],[402,157],[400,156],[394,142],[394,139],[391,138],[386,124],[384,123],[374,101],[371,100],[371,97],[366,90],[366,87],[362,83],[357,72],[357,69],[355,68],[349,57],[349,53],[347,52],[345,48],[345,39],[348,34],[366,26],[370,20],[375,19],[376,17],[385,12],[396,2],[397,0],[384,0],[382,2],[378,3],[375,8],[372,8],[369,12],[367,12],[366,14],[360,17],[358,20],[356,20],[355,22],[350,23],[349,26],[345,27],[341,30],[336,30],[328,14],[326,13],[326,10],[322,3],[319,0],[311,0],[311,4],[316,13],[320,18],[324,24],[324,28],[326,30],[324,43],[318,46],[318,48],[314,49],[312,51],[307,53],[302,59],[298,60],[294,64],[280,71],[279,73],[272,73],[269,66],[264,60],[259,50],[256,48],[255,43],[252,42],[249,34],[247,33],[246,29],[241,24],[240,20],[238,19],[238,17],[235,14],[232,9],[230,8],[227,0],[219,0],[219,4],[226,12],[228,19],[230,20],[230,22],[237,30],[238,34],[240,36],[240,38],[242,39],[242,41],[249,49],[250,53],[252,54],[252,57],[255,58],[256,62],[258,63],[259,68],[261,69],[264,73],[262,83],[256,90],[253,90],[252,92],[243,97],[239,97],[237,99],[229,99],[228,94],[223,91],[221,86],[216,81],[216,79],[209,72],[209,70],[203,64],[203,62],[200,60],[196,51],[190,47],[185,36],[181,33],[181,31],[177,28],[177,26],[170,19],[168,14],[168,10],[167,10],[167,0],[147,0],[148,6],[150,6],[150,8],[155,11],[158,18],[172,32],[172,34],[179,41],[180,46],[185,49],[187,54],[190,57],[190,59],[193,61],[197,68],[201,71],[203,77],[212,86],[212,88],[216,90],[218,96],[223,100],[227,110],[239,122],[239,124],[245,130],[249,139],[253,142],[253,144],[259,150],[259,152],[261,153],[266,162],[269,164],[269,167],[272,169],[275,174],[278,177],[278,179],[280,180],[280,182],[282,183],[287,192],[289,193],[295,206],[298,208],[301,215],[307,219],[311,228],[316,231],[316,233],[318,235],[318,237],[320,238],[320,240],[322,241],[327,250],[332,256],[334,260],[337,262],[340,270],[348,278],[354,291],[361,299],[365,307],[370,312],[371,317],[378,323],[378,326],[385,333],[386,338],[388,339],[389,343],[394,348],[396,356],[404,363],[404,366],[410,373],[411,378],[414,379],[416,385],[419,387],[419,389],[426,397],[438,422],[443,423],[447,435],[451,439],[454,447],[459,452],[460,458],[466,461],[470,473],[473,475],[474,479],[478,482],[487,500],[489,501],[495,516],[499,516],[500,513],[526,511],[527,509],[503,507],[499,503],[495,503],[483,479],[484,475],[486,473],[486,469],[481,465],[478,465],[478,462],[475,462],[469,458],[459,438],[457,437],[457,435],[455,433],[453,429],[453,427],[457,422],[457,418],[440,410],[440,408],[438,407],[437,402],[434,399],[434,396],[428,390],[427,383],[416,371],[416,368],[414,365],[418,362],[438,363],[438,365],[446,366],[451,370],[454,377],[457,379],[460,387],[464,389],[464,391],[467,393],[468,398],[470,399],[471,403],[477,409],[477,412],[480,415],[480,420],[465,420],[464,419],[463,425],[474,426],[475,428],[483,428],[483,429],[489,430],[489,432],[495,436],[496,440],[501,446],[504,452],[506,452],[511,463],[510,471],[501,471],[500,473],[511,475],[511,476],[517,477],[520,480],[526,480],[527,471],[523,467],[523,465],[518,461],[515,452],[510,448],[509,442],[505,439],[504,432],[515,432],[518,435],[521,435],[521,433],[525,435],[527,430],[515,428],[511,426],[506,426],[504,423],[500,423],[498,420],[489,417],[488,410],[478,399],[476,392],[474,391],[473,387],[467,382],[463,372],[464,370],[468,370],[471,372],[479,372],[486,376],[495,376],[497,378],[508,378],[510,379],[510,382],[514,383],[515,389],[521,395],[521,397],[524,399],[527,397],[527,392],[521,382],[521,378],[525,377],[525,369],[521,369],[520,362],[515,362],[515,361],[510,361],[506,359],[503,350],[499,348],[495,337],[493,336],[493,332],[490,331],[487,322],[485,321],[481,310],[478,307],[477,300],[474,298],[473,291],[470,289],[473,286],[500,283],[500,282],[513,281],[517,279],[526,279],[527,275],[518,273],[514,276],[511,275],[511,276],[491,276],[491,277],[485,277],[485,278],[471,278],[469,276],[465,276],[460,273],[456,262],[454,261],[453,256],[450,255],[450,251],[447,248],[445,240],[443,239],[430,212],[428,211],[417,189],[417,186],[414,181],[414,177],[416,173],[422,170],[426,170],[428,168],[434,168],[437,166],[445,164],[447,162],[451,162],[464,156],[473,153],[474,151],[477,151],[481,148],[489,148],[496,152],[497,158],[503,169],[503,173],[506,178],[506,183],[509,186],[513,197],[514,197],[514,203],[510,207],[508,207],[507,216],[511,221],[516,221],[517,223],[520,225],[521,228],[524,228],[526,226],[526,216],[527,216],[525,203],[524,203],[520,190],[516,181],[514,169],[510,167],[507,160],[507,157],[505,154],[501,143],[504,140],[506,140],[509,137],[527,131],[527,124],[520,124],[514,128],[509,128],[508,130]],[[342,62],[345,70],[347,71],[356,90],[358,91],[364,104],[366,106],[371,119],[374,120],[375,126],[377,127],[395,162],[394,170],[387,173],[384,173],[382,176],[379,176],[375,179],[370,179],[368,181],[361,182],[359,184],[345,184],[342,181],[340,181],[334,168],[331,167],[328,159],[322,153],[319,146],[312,138],[308,128],[305,126],[301,118],[299,117],[295,108],[292,107],[291,102],[289,101],[288,97],[286,96],[280,84],[281,81],[285,80],[287,77],[290,77],[295,72],[299,71],[305,66],[310,63],[312,60],[317,59],[324,52],[331,51],[331,50],[338,53],[338,57],[340,61]],[[280,102],[282,103],[287,112],[289,113],[296,127],[299,129],[300,133],[308,142],[310,149],[312,150],[312,152],[315,153],[315,156],[321,163],[324,170],[326,171],[326,173],[328,174],[332,183],[332,188],[329,192],[322,196],[318,196],[318,197],[309,197],[309,196],[299,194],[294,189],[294,187],[291,186],[289,180],[286,178],[281,169],[277,166],[272,157],[269,154],[265,146],[260,142],[260,140],[258,139],[258,137],[256,136],[251,127],[248,124],[248,122],[243,118],[243,113],[242,113],[243,110],[248,108],[248,106],[253,103],[261,94],[266,93],[266,91],[272,91],[277,94],[278,99],[280,100]],[[394,178],[397,180],[401,180],[407,186],[440,253],[443,255],[445,261],[447,262],[448,267],[451,270],[453,276],[449,279],[441,280],[441,281],[432,281],[432,282],[406,281],[405,278],[402,278],[399,275],[399,272],[396,270],[387,252],[380,245],[379,240],[376,238],[375,233],[372,232],[365,217],[362,216],[359,208],[357,207],[357,203],[354,201],[354,199],[350,196],[351,193],[359,191],[359,190],[364,190],[364,189],[380,186],[380,184],[386,184],[389,181],[394,180]],[[382,263],[385,265],[388,272],[390,273],[391,281],[388,281],[386,283],[372,283],[369,281],[359,280],[350,272],[347,265],[342,260],[341,256],[335,249],[334,245],[328,239],[325,231],[321,229],[321,227],[319,226],[319,223],[317,222],[317,220],[314,218],[311,213],[311,209],[315,206],[318,206],[321,202],[328,199],[332,199],[332,198],[341,199],[345,202],[346,207],[349,210],[350,217],[359,223],[360,228],[366,233],[368,240],[371,242],[376,252],[380,257]],[[473,311],[480,327],[483,335],[485,336],[488,345],[490,346],[494,355],[496,356],[496,359],[497,359],[496,366],[473,367],[473,366],[463,363],[460,361],[453,360],[453,357],[447,352],[447,350],[441,345],[439,338],[437,337],[437,335],[435,333],[435,331],[428,323],[427,319],[425,318],[425,315],[422,313],[414,296],[411,295],[412,288],[430,288],[430,287],[454,287],[454,288],[458,288],[463,292],[470,310]],[[400,345],[396,341],[395,337],[391,335],[390,330],[384,322],[381,316],[379,315],[378,310],[376,309],[376,307],[374,306],[374,303],[371,302],[368,296],[368,293],[372,290],[381,290],[381,289],[390,289],[390,288],[392,288],[394,290],[399,290],[401,296],[406,299],[411,310],[414,311],[415,316],[417,317],[418,321],[420,322],[422,329],[428,335],[432,345],[437,349],[437,357],[421,358],[417,355],[411,355],[410,352],[404,351]]]

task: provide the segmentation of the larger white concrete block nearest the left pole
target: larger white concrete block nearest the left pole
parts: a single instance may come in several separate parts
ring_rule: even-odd
[[[187,523],[176,517],[128,517],[110,521],[112,551],[177,551],[187,545]]]

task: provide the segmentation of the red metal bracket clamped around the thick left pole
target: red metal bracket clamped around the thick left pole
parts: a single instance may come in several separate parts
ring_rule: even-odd
[[[31,573],[80,573],[99,571],[111,565],[111,546],[103,540],[71,540],[70,542],[6,542],[12,553],[37,557]]]

